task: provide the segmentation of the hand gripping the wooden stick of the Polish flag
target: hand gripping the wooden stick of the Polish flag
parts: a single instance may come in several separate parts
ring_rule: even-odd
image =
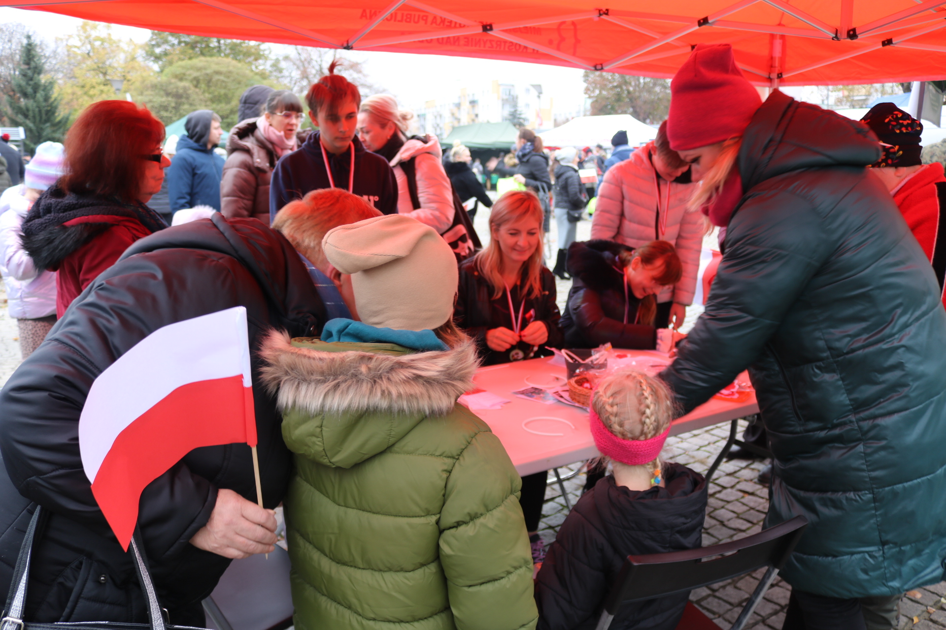
[[[233,490],[217,491],[217,502],[207,524],[190,539],[205,552],[239,560],[254,553],[271,553],[276,542],[276,517]]]

